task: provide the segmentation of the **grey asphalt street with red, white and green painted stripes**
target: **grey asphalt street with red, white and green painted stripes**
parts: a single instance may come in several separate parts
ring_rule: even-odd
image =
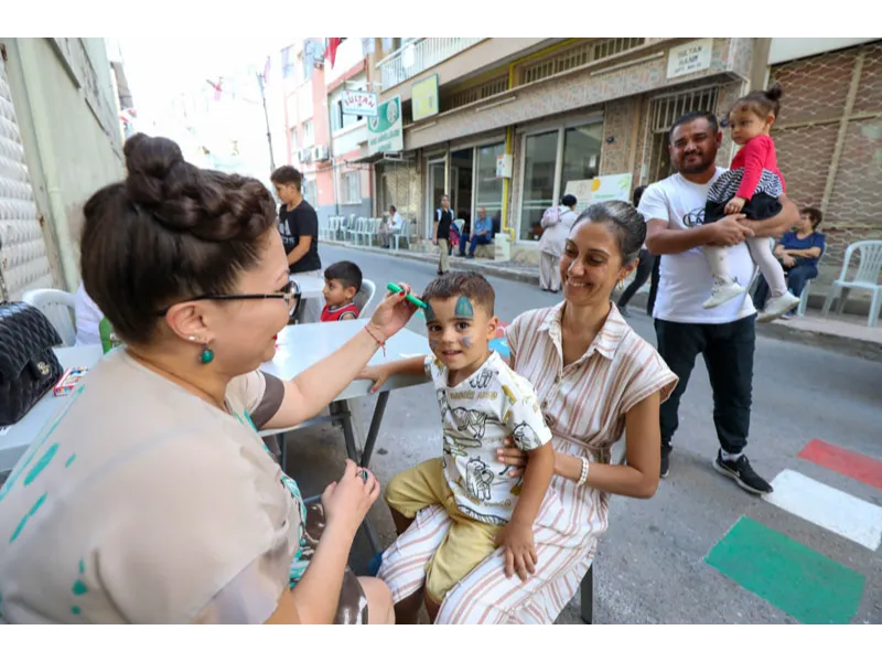
[[[356,261],[378,296],[389,280],[419,290],[434,276],[433,265],[394,256],[338,247],[321,255],[324,265]],[[530,285],[490,280],[504,322],[558,300]],[[635,311],[631,322],[655,342],[646,316]],[[424,333],[419,319],[410,328]],[[595,563],[595,624],[882,624],[880,384],[879,363],[757,340],[747,455],[775,479],[771,503],[713,471],[712,403],[699,361],[680,408],[670,477],[652,500],[613,499]],[[373,404],[363,402],[365,421]],[[439,430],[429,386],[395,393],[373,462],[380,480],[437,456]],[[807,448],[813,439],[831,446]],[[291,438],[288,469],[311,494],[336,477],[344,457],[340,430],[316,427]],[[370,517],[388,544],[394,530],[381,502]],[[356,566],[367,557],[359,542]],[[558,623],[579,623],[578,608],[577,598]]]

